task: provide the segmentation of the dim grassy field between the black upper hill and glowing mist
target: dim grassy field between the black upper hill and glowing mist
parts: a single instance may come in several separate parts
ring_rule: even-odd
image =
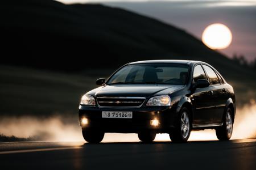
[[[0,115],[49,116],[76,114],[80,97],[92,88],[95,80],[112,71],[89,70],[79,74],[0,66]],[[236,91],[238,105],[255,99],[255,80],[240,82],[226,78]]]

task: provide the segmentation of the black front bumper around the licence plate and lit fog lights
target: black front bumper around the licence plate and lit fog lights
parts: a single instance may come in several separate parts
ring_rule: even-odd
[[[154,130],[156,133],[168,133],[174,127],[175,108],[141,107],[141,108],[99,108],[80,105],[79,120],[88,118],[88,124],[82,129],[94,129],[105,133],[138,133]],[[133,118],[102,118],[102,111],[133,112]],[[152,126],[151,120],[158,119],[160,124]]]

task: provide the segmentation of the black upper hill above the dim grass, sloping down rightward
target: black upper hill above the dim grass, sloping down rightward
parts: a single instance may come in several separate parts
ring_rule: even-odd
[[[222,74],[248,72],[187,32],[120,8],[13,0],[1,2],[0,11],[2,63],[79,71],[143,59],[193,59]]]

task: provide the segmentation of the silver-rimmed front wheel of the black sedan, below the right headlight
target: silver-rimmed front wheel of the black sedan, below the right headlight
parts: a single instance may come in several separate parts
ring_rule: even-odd
[[[172,142],[187,142],[191,133],[191,113],[185,107],[181,108],[177,116],[177,124],[175,129],[172,129],[169,136]]]

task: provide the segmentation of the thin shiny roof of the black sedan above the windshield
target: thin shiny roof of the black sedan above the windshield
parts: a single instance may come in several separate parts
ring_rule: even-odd
[[[130,62],[128,65],[140,64],[140,63],[181,63],[181,64],[191,65],[194,63],[205,63],[205,62],[193,61],[193,60],[182,60],[182,59],[153,59],[153,60]]]

